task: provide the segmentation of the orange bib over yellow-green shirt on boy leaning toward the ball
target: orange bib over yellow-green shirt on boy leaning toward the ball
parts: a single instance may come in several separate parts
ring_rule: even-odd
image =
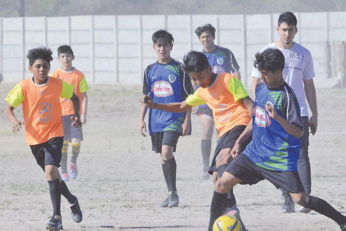
[[[195,107],[207,104],[212,110],[219,137],[237,125],[250,122],[248,109],[239,100],[248,96],[241,81],[229,73],[218,74],[207,88],[198,88],[186,98],[186,103]]]

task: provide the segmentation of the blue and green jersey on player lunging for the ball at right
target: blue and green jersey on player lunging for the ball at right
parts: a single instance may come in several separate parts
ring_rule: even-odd
[[[264,107],[267,102],[274,105],[279,116],[302,127],[300,107],[293,90],[286,83],[277,89],[270,89],[259,82],[253,110],[252,141],[243,154],[264,169],[297,171],[301,139],[288,134],[280,123],[268,115]]]

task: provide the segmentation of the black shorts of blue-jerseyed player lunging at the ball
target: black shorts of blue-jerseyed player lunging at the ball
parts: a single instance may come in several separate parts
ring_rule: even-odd
[[[242,180],[241,185],[255,185],[267,179],[276,188],[284,188],[291,193],[305,192],[298,171],[273,171],[257,166],[247,156],[241,154],[235,158],[226,172]]]

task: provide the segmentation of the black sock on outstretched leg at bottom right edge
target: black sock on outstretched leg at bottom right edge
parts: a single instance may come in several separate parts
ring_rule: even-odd
[[[328,202],[318,197],[310,196],[306,208],[315,210],[317,213],[331,218],[336,223],[338,223],[338,225],[344,224],[346,222],[346,216],[339,213]]]

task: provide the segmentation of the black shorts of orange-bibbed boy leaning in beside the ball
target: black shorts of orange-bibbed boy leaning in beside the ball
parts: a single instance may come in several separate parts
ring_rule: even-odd
[[[228,132],[226,132],[224,135],[222,135],[222,137],[220,137],[219,140],[217,140],[214,156],[212,157],[211,166],[208,170],[209,174],[212,175],[214,171],[217,171],[216,156],[220,153],[221,150],[225,148],[233,148],[236,140],[244,131],[245,127],[246,127],[245,125],[237,125],[233,127],[231,130],[229,130]],[[251,141],[251,138],[252,137],[250,137],[243,144],[241,144],[241,149],[242,149],[241,151],[245,149],[246,145]]]

